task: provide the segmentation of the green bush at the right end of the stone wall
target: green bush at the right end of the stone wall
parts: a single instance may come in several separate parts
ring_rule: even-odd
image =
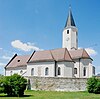
[[[89,93],[100,93],[100,79],[91,77],[87,81],[87,89]]]

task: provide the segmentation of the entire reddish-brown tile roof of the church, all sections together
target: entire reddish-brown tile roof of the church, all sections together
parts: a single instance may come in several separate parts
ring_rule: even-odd
[[[68,51],[66,48],[45,50],[34,52],[31,56],[17,56],[9,61],[5,68],[15,68],[21,66],[27,66],[27,62],[46,62],[46,61],[71,61],[78,58],[90,58],[85,49]],[[91,59],[91,58],[90,58]]]

